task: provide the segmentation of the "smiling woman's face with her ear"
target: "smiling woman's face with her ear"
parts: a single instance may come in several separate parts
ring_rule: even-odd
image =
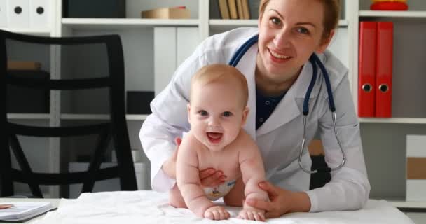
[[[324,52],[329,39],[322,39],[323,20],[321,1],[270,0],[259,17],[256,65],[262,78],[285,83],[298,76],[312,52]]]

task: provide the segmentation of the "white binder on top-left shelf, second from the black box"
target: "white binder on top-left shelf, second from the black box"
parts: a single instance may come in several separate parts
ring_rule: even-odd
[[[6,0],[8,28],[29,27],[29,0]],[[31,0],[33,1],[33,0]]]

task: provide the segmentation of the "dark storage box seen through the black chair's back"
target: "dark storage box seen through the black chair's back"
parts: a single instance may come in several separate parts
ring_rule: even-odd
[[[50,74],[46,71],[8,70],[10,76],[32,77],[48,80]],[[9,84],[7,86],[8,113],[49,113],[50,91],[20,87]]]

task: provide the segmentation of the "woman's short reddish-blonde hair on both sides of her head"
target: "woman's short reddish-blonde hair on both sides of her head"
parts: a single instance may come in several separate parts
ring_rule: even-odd
[[[270,0],[261,0],[259,4],[259,17],[265,12]],[[338,26],[340,19],[341,0],[319,0],[324,4],[324,32],[322,38],[328,38],[331,30]]]

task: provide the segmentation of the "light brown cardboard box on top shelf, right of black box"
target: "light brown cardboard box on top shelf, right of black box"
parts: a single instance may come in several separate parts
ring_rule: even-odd
[[[188,8],[156,8],[141,12],[141,18],[149,19],[189,19],[191,13]]]

